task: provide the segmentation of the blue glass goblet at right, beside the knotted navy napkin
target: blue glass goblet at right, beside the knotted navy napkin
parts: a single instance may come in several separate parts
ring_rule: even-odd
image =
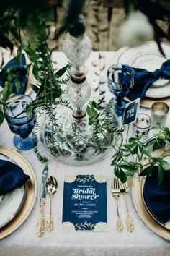
[[[107,70],[109,91],[115,94],[115,98],[110,101],[115,109],[117,116],[123,115],[125,103],[123,98],[128,94],[134,85],[134,69],[127,64],[115,64]]]

